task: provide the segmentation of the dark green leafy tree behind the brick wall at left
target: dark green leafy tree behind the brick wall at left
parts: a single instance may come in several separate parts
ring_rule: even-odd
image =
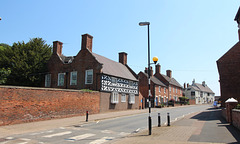
[[[52,55],[52,47],[42,38],[29,42],[17,42],[0,51],[0,68],[10,68],[6,84],[20,86],[40,86],[46,64]]]

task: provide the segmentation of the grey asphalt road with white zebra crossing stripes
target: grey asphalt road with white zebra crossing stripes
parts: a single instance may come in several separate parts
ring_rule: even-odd
[[[175,121],[184,115],[203,111],[209,105],[195,105],[187,107],[169,107],[163,109],[152,109],[152,125],[158,124],[158,113],[161,116],[161,125],[166,124],[167,113],[170,113],[171,121]],[[101,144],[111,140],[124,138],[131,133],[137,133],[148,129],[148,113],[124,116],[119,118],[101,120],[83,125],[59,127],[34,133],[8,136],[0,144]],[[7,140],[7,141],[6,141]]]

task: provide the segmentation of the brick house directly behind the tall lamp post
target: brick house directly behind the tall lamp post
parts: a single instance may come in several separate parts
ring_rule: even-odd
[[[139,91],[143,95],[143,107],[148,107],[148,68],[145,68],[144,72],[138,73],[139,80]],[[151,67],[150,71],[150,88],[151,88],[151,106],[159,106],[162,103],[167,102],[168,89],[165,84],[163,84],[159,79],[153,75],[153,70]]]

